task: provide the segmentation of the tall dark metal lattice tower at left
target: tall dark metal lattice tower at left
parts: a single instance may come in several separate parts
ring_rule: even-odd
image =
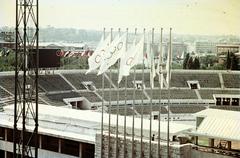
[[[14,157],[38,157],[38,31],[38,0],[16,0]]]

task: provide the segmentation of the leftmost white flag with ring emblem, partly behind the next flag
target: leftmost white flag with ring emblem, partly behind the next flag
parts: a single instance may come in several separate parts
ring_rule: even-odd
[[[105,40],[102,37],[94,53],[92,54],[92,56],[88,58],[89,69],[86,73],[89,73],[97,69],[101,65],[102,56],[104,52],[107,50],[107,48],[109,47],[110,42],[111,42],[111,35],[108,35],[108,37]]]

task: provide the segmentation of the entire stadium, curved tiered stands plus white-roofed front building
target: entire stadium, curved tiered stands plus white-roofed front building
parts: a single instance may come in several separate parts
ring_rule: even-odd
[[[219,137],[210,143],[205,141],[201,146],[196,143],[196,137],[213,139],[215,135],[204,135],[205,126],[198,124],[198,116],[205,115],[203,111],[210,110],[206,114],[214,115],[218,110],[222,116],[237,115],[240,111],[240,73],[237,71],[201,71],[201,70],[173,70],[170,87],[170,106],[168,109],[168,90],[163,87],[159,89],[158,80],[155,80],[156,87],[151,88],[149,74],[144,73],[145,80],[142,81],[141,72],[137,71],[134,82],[134,73],[131,73],[119,84],[117,89],[117,72],[105,73],[105,83],[102,86],[102,77],[95,73],[85,74],[85,70],[52,70],[50,73],[40,72],[39,74],[39,108],[40,108],[40,146],[39,157],[99,157],[100,151],[100,125],[102,102],[104,106],[104,137],[107,137],[108,120],[112,119],[112,129],[115,131],[116,114],[119,114],[119,135],[123,133],[124,117],[127,117],[127,143],[131,145],[131,123],[132,116],[135,116],[135,133],[140,135],[140,117],[144,116],[144,138],[149,128],[149,116],[152,112],[153,131],[156,139],[153,138],[153,148],[157,146],[158,119],[161,120],[161,146],[166,148],[166,120],[167,113],[170,113],[170,138],[171,155],[173,157],[198,157],[199,152],[213,154],[213,157],[240,156],[240,147],[236,144],[239,140],[227,139],[227,135]],[[164,73],[165,75],[165,73]],[[142,82],[137,82],[142,81]],[[125,87],[127,84],[127,87]],[[135,85],[134,85],[135,84]],[[140,84],[140,86],[138,85]],[[144,86],[143,86],[144,85]],[[0,72],[0,157],[11,157],[13,132],[13,104],[14,104],[14,72]],[[143,87],[143,89],[141,88]],[[103,95],[104,94],[104,95]],[[135,94],[135,97],[134,97]],[[133,99],[134,97],[134,99]],[[150,110],[150,100],[152,110]],[[134,105],[134,106],[133,106]],[[160,106],[159,106],[160,105]],[[126,107],[126,109],[125,109]],[[160,107],[160,109],[159,109]],[[159,112],[160,111],[160,115]],[[232,112],[233,111],[233,112]],[[201,113],[203,112],[203,114]],[[109,118],[111,113],[111,118]],[[214,114],[213,114],[214,113]],[[218,114],[220,117],[220,114]],[[205,117],[205,116],[204,116]],[[197,118],[197,119],[196,119]],[[209,116],[211,118],[211,116]],[[203,120],[203,122],[206,122]],[[226,121],[225,121],[226,122]],[[235,121],[237,125],[239,122]],[[29,120],[27,125],[32,126]],[[212,121],[212,126],[214,126]],[[227,122],[226,122],[227,124]],[[219,125],[219,122],[218,122]],[[147,127],[148,126],[148,127]],[[204,127],[202,127],[204,126]],[[216,128],[216,127],[215,127]],[[31,129],[31,128],[30,128]],[[203,130],[203,131],[202,131]],[[115,132],[112,132],[115,133]],[[111,138],[116,135],[111,134]],[[234,136],[233,136],[234,137]],[[188,139],[187,139],[188,138]],[[187,140],[186,140],[187,139]],[[192,140],[194,139],[194,140]],[[122,141],[119,136],[120,142]],[[184,141],[185,140],[185,141]],[[219,142],[225,142],[225,148],[219,148]],[[225,140],[225,141],[224,141]],[[136,136],[136,146],[139,146],[140,138]],[[143,140],[145,141],[145,140]],[[234,150],[231,148],[231,141]],[[185,142],[185,143],[184,143]],[[187,144],[191,142],[192,144]],[[3,146],[3,143],[7,145]],[[108,153],[107,139],[103,140],[103,152]],[[145,142],[147,144],[147,142]],[[217,144],[218,143],[218,144]],[[113,142],[114,144],[114,142]],[[165,144],[165,145],[164,145]],[[210,144],[210,146],[209,146]],[[216,145],[217,144],[217,145]],[[221,144],[221,143],[220,143]],[[114,145],[113,145],[114,146]],[[119,150],[121,149],[121,144]],[[147,148],[147,146],[146,146]],[[181,149],[181,150],[178,150]],[[191,150],[190,150],[191,149]],[[212,150],[211,150],[212,149]],[[109,149],[110,150],[110,149]],[[147,150],[147,149],[146,149]],[[115,146],[111,148],[115,151]],[[119,151],[120,152],[120,151]],[[128,154],[131,153],[127,149]],[[146,151],[147,152],[147,151]],[[156,152],[156,151],[155,151]],[[165,152],[163,152],[163,157]],[[112,153],[114,155],[114,153]],[[120,153],[119,153],[120,154]],[[136,151],[136,155],[139,151]],[[178,155],[178,156],[176,156]],[[146,155],[145,155],[146,156]],[[206,156],[206,155],[205,155]]]

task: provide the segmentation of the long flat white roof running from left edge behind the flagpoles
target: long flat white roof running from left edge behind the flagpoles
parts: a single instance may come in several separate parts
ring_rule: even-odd
[[[4,112],[0,112],[0,125],[13,128],[13,105],[5,106]],[[104,113],[103,122],[108,126],[109,114]],[[111,115],[111,126],[116,127],[116,115]],[[132,128],[132,117],[126,117],[126,127]],[[32,129],[34,123],[28,122],[28,129]],[[18,125],[21,128],[21,125]],[[119,126],[124,126],[124,116],[119,116]],[[64,107],[54,107],[39,104],[39,132],[46,135],[55,135],[59,137],[68,137],[72,140],[81,140],[83,142],[94,143],[95,135],[100,132],[101,112],[91,110],[76,110]],[[143,119],[143,129],[146,130],[146,136],[150,127],[150,121]],[[193,126],[170,122],[170,136],[177,135],[183,131],[190,131]],[[136,132],[141,129],[141,119],[135,118]],[[152,131],[157,135],[158,121],[152,120]],[[161,121],[161,133],[163,137],[167,133],[167,122]],[[161,136],[162,136],[161,135]]]

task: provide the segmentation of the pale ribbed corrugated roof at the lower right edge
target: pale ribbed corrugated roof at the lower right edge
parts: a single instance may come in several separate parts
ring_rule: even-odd
[[[205,118],[193,135],[240,141],[240,112],[207,109],[195,115]]]

